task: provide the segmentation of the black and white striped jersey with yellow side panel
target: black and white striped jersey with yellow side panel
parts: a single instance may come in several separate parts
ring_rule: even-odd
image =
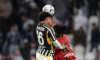
[[[36,28],[36,33],[39,44],[37,52],[45,56],[53,56],[55,47],[52,42],[56,40],[53,28],[40,23]]]

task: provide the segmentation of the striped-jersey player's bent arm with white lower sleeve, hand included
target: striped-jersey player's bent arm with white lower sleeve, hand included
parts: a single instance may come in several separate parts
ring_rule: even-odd
[[[50,40],[52,41],[53,45],[55,47],[57,47],[58,49],[64,49],[64,45],[61,45],[57,40],[56,40],[56,37],[55,37],[55,32],[51,29],[49,30],[49,38]]]

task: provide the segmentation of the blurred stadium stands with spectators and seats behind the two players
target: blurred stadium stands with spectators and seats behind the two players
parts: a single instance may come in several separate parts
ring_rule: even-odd
[[[66,25],[76,60],[100,60],[100,0],[0,0],[0,60],[36,60],[35,28],[45,4]]]

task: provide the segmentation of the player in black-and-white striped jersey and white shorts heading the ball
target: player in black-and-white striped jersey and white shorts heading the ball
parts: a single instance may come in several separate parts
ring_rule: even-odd
[[[53,60],[55,47],[64,49],[65,45],[61,45],[56,40],[55,32],[53,28],[50,27],[52,23],[52,15],[48,12],[40,12],[38,19],[40,20],[40,23],[37,25],[36,33],[39,46],[36,52],[36,59]]]

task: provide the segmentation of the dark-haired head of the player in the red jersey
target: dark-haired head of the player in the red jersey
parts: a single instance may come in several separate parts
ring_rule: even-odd
[[[54,27],[56,37],[63,36],[63,34],[67,34],[67,27],[61,25],[55,25]]]

